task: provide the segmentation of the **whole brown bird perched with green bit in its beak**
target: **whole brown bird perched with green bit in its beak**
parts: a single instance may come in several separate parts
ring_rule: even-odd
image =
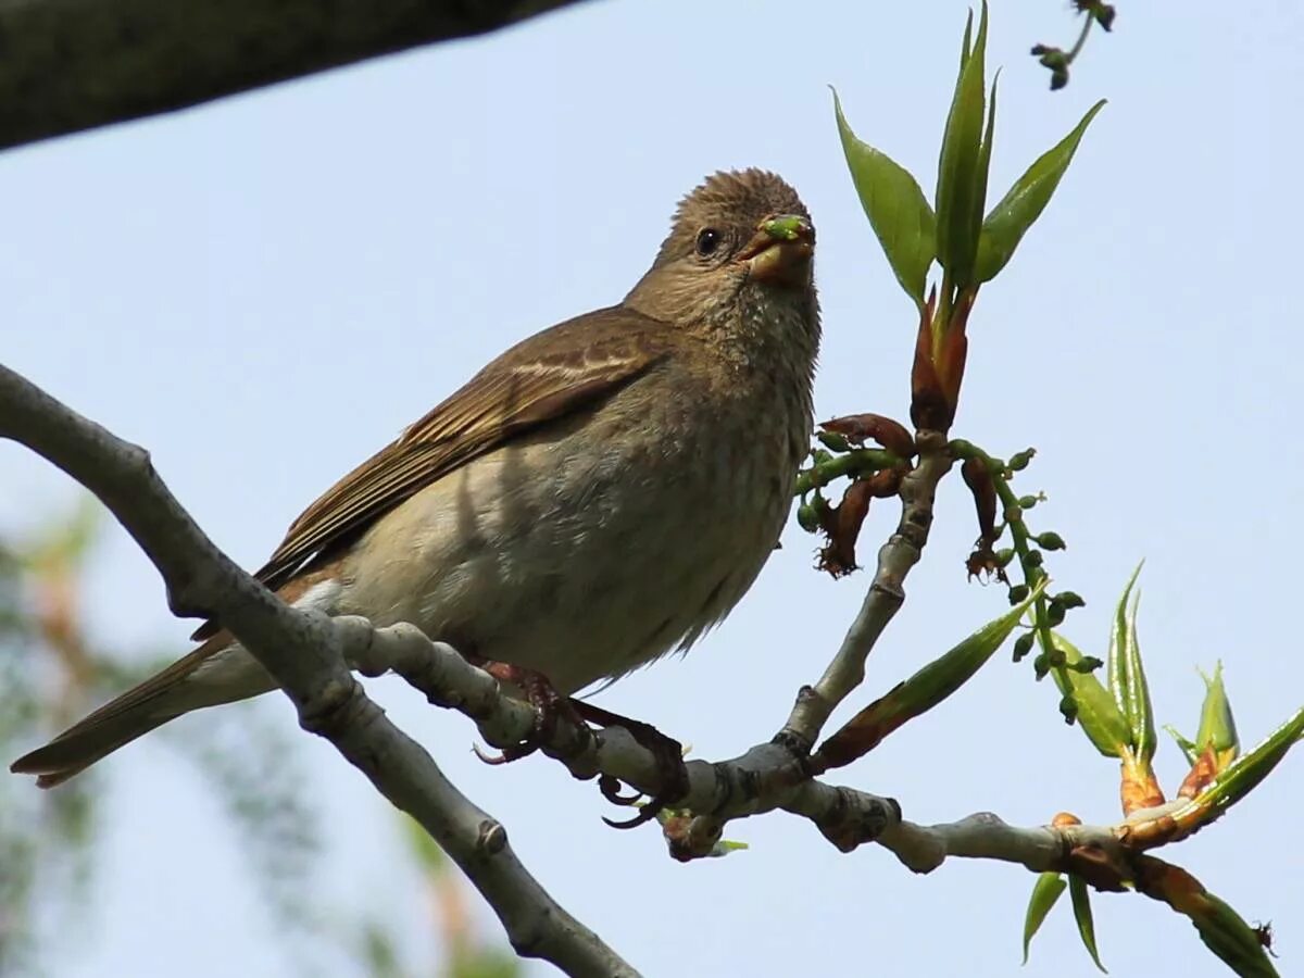
[[[687,649],[760,572],[810,446],[814,245],[780,177],[708,177],[619,305],[489,364],[309,506],[258,578],[562,695]],[[12,769],[50,788],[173,717],[275,689],[216,623],[196,639]]]

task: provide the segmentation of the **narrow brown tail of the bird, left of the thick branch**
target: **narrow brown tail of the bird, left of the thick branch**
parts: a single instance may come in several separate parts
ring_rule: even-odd
[[[228,648],[248,661],[232,662],[233,668],[227,669],[214,668],[218,666],[216,653],[224,655]],[[194,673],[205,662],[209,669],[201,682]],[[237,672],[239,675],[222,675]],[[275,687],[266,673],[262,679],[257,673],[262,673],[261,668],[232,644],[231,635],[219,632],[190,655],[73,724],[44,747],[18,758],[9,769],[17,775],[37,775],[38,788],[53,788],[183,713]]]

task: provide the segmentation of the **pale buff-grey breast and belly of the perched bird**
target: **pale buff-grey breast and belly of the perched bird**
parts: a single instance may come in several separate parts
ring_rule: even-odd
[[[686,647],[773,550],[808,443],[801,393],[648,376],[383,518],[348,610],[411,621],[561,691]]]

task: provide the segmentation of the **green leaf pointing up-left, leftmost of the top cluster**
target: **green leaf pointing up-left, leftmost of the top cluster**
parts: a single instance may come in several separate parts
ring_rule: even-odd
[[[910,172],[883,153],[855,138],[846,124],[842,103],[833,91],[833,112],[842,138],[846,168],[883,253],[901,288],[923,305],[928,266],[938,256],[938,219]]]

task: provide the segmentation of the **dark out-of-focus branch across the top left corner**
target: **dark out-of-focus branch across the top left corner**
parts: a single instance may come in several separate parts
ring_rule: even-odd
[[[575,0],[0,0],[0,149],[168,112]]]

